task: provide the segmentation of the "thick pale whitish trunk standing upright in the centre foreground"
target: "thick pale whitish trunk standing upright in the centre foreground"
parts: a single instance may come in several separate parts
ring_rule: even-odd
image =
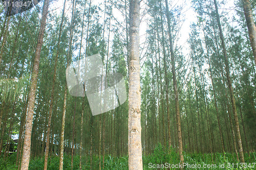
[[[140,2],[130,0],[130,57],[129,57],[129,118],[128,145],[129,169],[141,170],[141,124],[140,124],[140,63],[139,63]]]

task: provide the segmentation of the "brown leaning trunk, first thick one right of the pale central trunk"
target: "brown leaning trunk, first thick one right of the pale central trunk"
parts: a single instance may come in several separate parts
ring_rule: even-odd
[[[165,5],[166,5],[166,17],[167,17],[167,24],[168,24],[169,43],[170,43],[170,56],[172,59],[172,72],[173,72],[173,84],[174,84],[174,93],[175,93],[175,111],[176,111],[176,118],[177,118],[179,156],[180,156],[181,164],[183,164],[184,157],[182,154],[183,147],[182,147],[182,132],[181,132],[181,125],[180,125],[179,92],[178,92],[178,88],[177,88],[175,56],[174,56],[174,50],[173,50],[173,38],[172,38],[172,32],[170,30],[170,16],[169,16],[169,8],[168,8],[167,0],[165,0]]]

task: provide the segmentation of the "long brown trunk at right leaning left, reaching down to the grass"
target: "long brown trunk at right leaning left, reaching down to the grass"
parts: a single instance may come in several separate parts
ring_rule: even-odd
[[[237,134],[237,140],[238,140],[239,156],[240,156],[240,161],[244,163],[244,152],[243,152],[242,139],[241,139],[240,129],[239,129],[236,101],[234,100],[233,87],[232,87],[231,79],[230,79],[228,56],[227,56],[224,36],[223,36],[223,33],[222,33],[220,16],[219,16],[219,13],[218,13],[218,6],[217,6],[216,0],[214,0],[214,5],[215,5],[216,16],[217,16],[217,23],[218,23],[218,27],[219,27],[219,31],[220,31],[221,44],[222,44],[222,48],[223,48],[225,69],[226,69],[226,77],[227,77],[228,88],[229,88],[229,92],[230,92],[232,110],[233,110],[233,114],[234,114],[234,124],[235,124],[236,132],[237,132],[236,134]]]

